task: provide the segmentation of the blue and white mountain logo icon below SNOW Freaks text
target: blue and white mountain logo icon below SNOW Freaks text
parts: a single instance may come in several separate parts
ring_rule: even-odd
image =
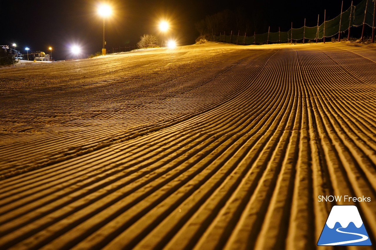
[[[333,206],[317,245],[372,245],[358,208]]]

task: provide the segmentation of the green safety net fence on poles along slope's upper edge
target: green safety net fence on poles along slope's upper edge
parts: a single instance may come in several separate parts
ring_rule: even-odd
[[[291,38],[293,40],[322,39],[323,37],[334,36],[339,32],[345,32],[350,27],[361,26],[363,24],[375,28],[374,1],[376,0],[363,0],[356,6],[350,6],[349,9],[332,20],[324,21],[322,24],[314,27],[303,26],[299,29],[292,28],[287,32],[267,32],[253,36],[220,34],[219,36],[214,35],[213,40],[216,42],[249,45],[265,42],[288,42],[291,41]]]

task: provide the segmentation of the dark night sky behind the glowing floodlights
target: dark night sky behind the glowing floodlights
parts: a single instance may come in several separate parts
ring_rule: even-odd
[[[199,35],[194,23],[206,15],[224,9],[242,9],[251,13],[260,13],[259,30],[256,33],[276,32],[278,27],[286,31],[291,21],[298,28],[323,21],[324,9],[327,20],[336,17],[341,11],[341,0],[316,1],[255,1],[255,0],[105,0],[113,6],[114,14],[106,21],[106,48],[134,46],[144,33],[161,36],[158,21],[169,19],[172,25],[168,35],[175,38],[179,45],[194,44]],[[354,0],[357,5],[361,0]],[[48,52],[56,60],[71,58],[70,46],[77,44],[83,54],[100,51],[102,48],[103,19],[97,14],[97,5],[101,1],[91,0],[4,0],[0,8],[0,45],[17,44],[16,49],[26,53],[30,51]],[[344,10],[350,7],[351,0],[344,0]],[[265,30],[264,30],[265,29]]]

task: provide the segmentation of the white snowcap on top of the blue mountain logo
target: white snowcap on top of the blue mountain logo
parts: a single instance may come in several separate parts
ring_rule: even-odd
[[[336,222],[339,222],[342,227],[347,227],[350,222],[353,222],[358,228],[363,224],[358,208],[353,205],[333,206],[326,224],[332,229]]]

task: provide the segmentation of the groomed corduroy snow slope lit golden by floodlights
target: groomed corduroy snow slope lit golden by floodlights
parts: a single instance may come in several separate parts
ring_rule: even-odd
[[[374,45],[159,48],[0,86],[0,249],[316,249],[336,204],[376,243]]]

